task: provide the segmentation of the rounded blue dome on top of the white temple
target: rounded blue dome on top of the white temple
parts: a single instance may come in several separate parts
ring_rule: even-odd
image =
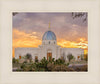
[[[47,31],[44,33],[42,40],[56,40],[56,35],[52,31]]]

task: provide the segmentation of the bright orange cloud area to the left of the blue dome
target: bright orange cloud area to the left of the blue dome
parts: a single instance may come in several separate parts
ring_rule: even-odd
[[[17,29],[13,30],[13,47],[38,47],[41,40],[36,35],[37,33],[25,33]]]

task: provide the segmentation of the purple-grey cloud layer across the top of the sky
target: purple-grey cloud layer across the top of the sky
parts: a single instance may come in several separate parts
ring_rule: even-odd
[[[13,28],[19,30],[44,32],[48,28],[48,23],[51,22],[52,28],[62,30],[63,27],[70,25],[87,26],[80,18],[73,19],[71,13],[19,13],[13,16]],[[70,24],[70,25],[69,25]],[[59,27],[58,27],[59,26]]]

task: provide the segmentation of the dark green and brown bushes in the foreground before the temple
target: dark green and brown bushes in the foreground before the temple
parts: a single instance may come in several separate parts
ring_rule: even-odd
[[[23,62],[17,71],[87,71],[87,65],[81,67],[68,67],[69,63],[64,60],[57,59],[48,61],[44,57],[40,62]]]

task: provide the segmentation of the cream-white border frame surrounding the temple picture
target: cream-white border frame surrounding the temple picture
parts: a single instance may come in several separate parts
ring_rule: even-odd
[[[1,0],[0,84],[100,84],[99,0]],[[88,72],[12,72],[12,12],[88,12]]]

